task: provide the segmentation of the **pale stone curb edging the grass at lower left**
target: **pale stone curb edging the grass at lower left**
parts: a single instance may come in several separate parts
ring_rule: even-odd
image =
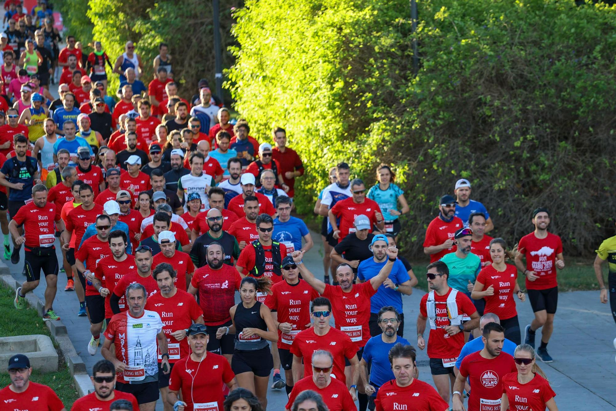
[[[12,290],[17,290],[21,284],[10,275],[10,269],[4,261],[0,260],[0,281],[7,285]],[[43,315],[44,303],[34,293],[28,293],[26,295],[26,301],[28,305],[36,309],[39,315]],[[58,343],[60,353],[64,357],[68,371],[73,376],[73,382],[77,389],[79,397],[83,397],[89,393],[94,392],[94,386],[90,380],[90,376],[87,374],[86,364],[81,357],[77,354],[75,346],[71,343],[68,337],[67,327],[59,321],[46,321],[45,324],[49,328],[52,338]]]

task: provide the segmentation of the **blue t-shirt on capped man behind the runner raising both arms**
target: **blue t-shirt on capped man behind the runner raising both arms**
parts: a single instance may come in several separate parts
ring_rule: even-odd
[[[368,258],[359,263],[357,267],[357,278],[362,281],[368,281],[372,277],[379,274],[379,271],[385,266],[387,259],[383,262],[375,262],[374,258]],[[389,273],[389,279],[396,284],[402,284],[411,279],[408,276],[407,269],[399,259],[396,259],[394,266]],[[402,294],[394,291],[392,288],[385,288],[383,284],[379,285],[376,294],[370,298],[370,312],[375,314],[384,306],[393,306],[398,312],[402,312]]]

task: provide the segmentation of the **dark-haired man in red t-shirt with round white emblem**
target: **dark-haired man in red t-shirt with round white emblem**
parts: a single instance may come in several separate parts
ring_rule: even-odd
[[[453,385],[453,409],[463,410],[462,391],[468,377],[471,394],[468,411],[500,409],[503,396],[503,376],[517,372],[513,357],[502,352],[505,342],[505,328],[495,322],[488,322],[482,333],[484,349],[464,357],[460,372]]]

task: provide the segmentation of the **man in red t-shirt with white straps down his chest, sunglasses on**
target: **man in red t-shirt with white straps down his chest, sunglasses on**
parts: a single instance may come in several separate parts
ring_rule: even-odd
[[[442,261],[435,261],[426,267],[428,287],[432,290],[421,298],[417,316],[417,347],[426,348],[423,333],[426,322],[430,324],[428,357],[432,379],[440,397],[449,402],[449,386],[455,380],[456,360],[464,346],[464,330],[479,326],[479,314],[471,299],[447,285],[449,269]],[[462,324],[463,314],[471,320]]]

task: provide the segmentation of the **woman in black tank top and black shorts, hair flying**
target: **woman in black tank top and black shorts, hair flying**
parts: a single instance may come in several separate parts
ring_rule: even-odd
[[[267,407],[269,375],[274,368],[267,341],[278,341],[278,332],[270,309],[257,301],[257,291],[268,293],[272,281],[267,277],[245,277],[240,284],[241,303],[229,310],[235,333],[235,351],[231,369],[238,385],[252,391]]]

